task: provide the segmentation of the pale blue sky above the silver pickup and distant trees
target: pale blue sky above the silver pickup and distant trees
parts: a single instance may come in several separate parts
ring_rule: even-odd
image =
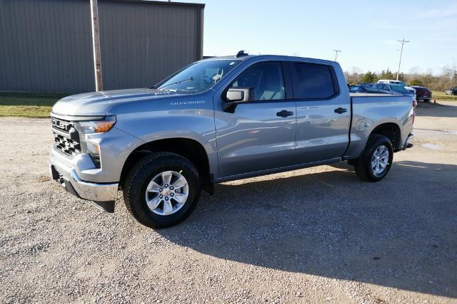
[[[457,65],[457,1],[182,0],[206,4],[204,56],[281,54],[343,70],[441,73]]]

